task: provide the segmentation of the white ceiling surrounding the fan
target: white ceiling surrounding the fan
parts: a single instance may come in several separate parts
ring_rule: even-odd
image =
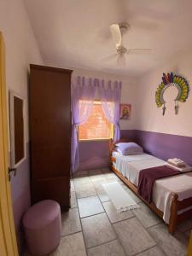
[[[192,43],[191,0],[25,0],[46,65],[79,67],[139,76]],[[151,48],[151,55],[127,55],[126,66],[108,60],[115,53],[109,26],[128,22],[126,48]]]

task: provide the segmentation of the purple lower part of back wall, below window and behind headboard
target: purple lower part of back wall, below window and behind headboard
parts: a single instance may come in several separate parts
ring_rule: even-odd
[[[135,130],[121,130],[121,137],[135,140]],[[108,141],[92,141],[79,143],[79,171],[108,166]]]

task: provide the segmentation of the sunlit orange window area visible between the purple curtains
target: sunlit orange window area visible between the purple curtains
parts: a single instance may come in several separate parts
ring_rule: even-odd
[[[93,104],[87,122],[83,125],[79,125],[79,141],[102,140],[112,137],[113,124],[109,123],[108,119],[106,119],[102,111],[102,103],[96,101]]]

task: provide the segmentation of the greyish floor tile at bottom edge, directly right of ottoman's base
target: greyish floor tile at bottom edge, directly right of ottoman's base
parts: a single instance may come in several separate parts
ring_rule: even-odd
[[[82,233],[61,237],[59,247],[49,256],[86,256]]]

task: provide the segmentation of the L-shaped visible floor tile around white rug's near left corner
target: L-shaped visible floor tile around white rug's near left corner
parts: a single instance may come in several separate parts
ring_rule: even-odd
[[[103,202],[102,205],[107,212],[108,218],[110,219],[111,223],[115,223],[134,216],[133,212],[131,211],[118,213],[111,201]]]

